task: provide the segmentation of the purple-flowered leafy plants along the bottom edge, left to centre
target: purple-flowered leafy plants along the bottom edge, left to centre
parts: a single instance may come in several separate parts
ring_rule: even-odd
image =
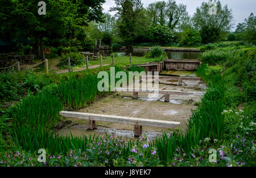
[[[132,142],[130,142],[132,143]],[[40,163],[36,152],[10,151],[0,154],[0,166],[28,167],[89,167],[89,166],[157,166],[159,158],[154,147],[150,147],[146,135],[135,145],[129,146],[115,133],[107,134],[88,143],[86,151],[71,150],[66,154],[46,154],[46,162]]]

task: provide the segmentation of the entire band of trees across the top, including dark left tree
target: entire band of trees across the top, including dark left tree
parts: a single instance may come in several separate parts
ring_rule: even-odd
[[[0,39],[29,39],[34,53],[45,60],[45,45],[56,50],[93,50],[95,41],[118,49],[123,45],[196,46],[228,40],[255,43],[255,16],[233,27],[232,10],[219,0],[209,0],[189,16],[187,6],[175,0],[156,1],[147,7],[141,0],[115,0],[103,13],[105,0],[46,0],[46,15],[38,14],[38,1],[0,2]],[[216,14],[209,13],[216,5]],[[224,36],[223,34],[226,34]],[[228,35],[228,36],[227,36]],[[71,47],[70,47],[71,46]]]

